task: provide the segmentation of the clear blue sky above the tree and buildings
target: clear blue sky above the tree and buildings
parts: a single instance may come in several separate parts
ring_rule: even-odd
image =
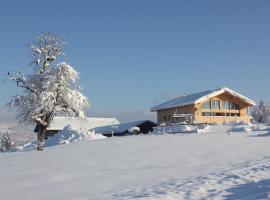
[[[2,0],[0,107],[20,93],[7,72],[29,71],[27,44],[48,32],[65,37],[91,117],[155,120],[152,106],[222,86],[270,102],[269,10],[266,0]]]

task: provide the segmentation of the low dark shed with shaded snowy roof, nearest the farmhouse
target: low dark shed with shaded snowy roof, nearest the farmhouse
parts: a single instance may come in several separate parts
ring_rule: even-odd
[[[96,127],[93,130],[104,136],[125,136],[136,133],[147,134],[153,131],[157,124],[150,120],[135,121],[123,124],[115,124],[110,126]]]

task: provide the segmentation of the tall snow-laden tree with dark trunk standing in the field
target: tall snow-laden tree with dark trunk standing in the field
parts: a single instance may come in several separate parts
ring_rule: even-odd
[[[54,116],[84,117],[89,106],[81,93],[79,73],[63,62],[61,37],[41,34],[29,45],[32,52],[32,73],[9,73],[9,79],[23,89],[23,95],[12,98],[9,105],[17,110],[21,123],[36,123],[39,127],[37,150],[43,150],[45,133]]]

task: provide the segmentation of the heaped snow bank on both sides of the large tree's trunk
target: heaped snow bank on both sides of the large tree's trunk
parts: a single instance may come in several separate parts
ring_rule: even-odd
[[[74,142],[82,142],[88,140],[98,140],[104,139],[105,136],[95,133],[93,131],[88,131],[86,129],[73,129],[71,126],[66,126],[62,131],[57,133],[56,135],[49,137],[46,140],[45,146],[51,147],[59,144],[70,144]],[[20,151],[29,151],[34,150],[37,147],[37,141],[27,143],[18,147]]]

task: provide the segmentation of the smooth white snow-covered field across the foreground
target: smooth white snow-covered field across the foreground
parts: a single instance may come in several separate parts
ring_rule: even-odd
[[[0,199],[270,199],[270,134],[114,137],[0,154]]]

